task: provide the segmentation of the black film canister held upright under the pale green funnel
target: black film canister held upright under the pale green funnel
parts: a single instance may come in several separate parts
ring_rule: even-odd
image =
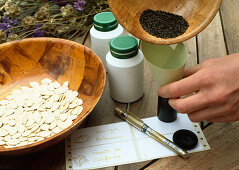
[[[168,99],[160,96],[158,96],[158,118],[166,123],[173,122],[177,119],[177,111],[168,104]]]

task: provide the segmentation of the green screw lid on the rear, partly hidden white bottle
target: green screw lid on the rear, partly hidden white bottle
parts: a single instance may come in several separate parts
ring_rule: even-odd
[[[94,27],[98,31],[107,32],[118,27],[118,22],[112,12],[101,12],[94,16]]]

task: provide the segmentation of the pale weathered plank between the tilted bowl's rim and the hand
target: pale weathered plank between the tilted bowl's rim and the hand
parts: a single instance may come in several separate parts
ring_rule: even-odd
[[[227,55],[219,13],[208,27],[198,34],[198,57],[204,60]]]

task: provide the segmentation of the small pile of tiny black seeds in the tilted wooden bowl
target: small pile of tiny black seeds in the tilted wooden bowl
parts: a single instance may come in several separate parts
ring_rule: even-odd
[[[149,9],[143,11],[139,20],[143,29],[149,34],[165,39],[184,34],[189,26],[180,15]]]

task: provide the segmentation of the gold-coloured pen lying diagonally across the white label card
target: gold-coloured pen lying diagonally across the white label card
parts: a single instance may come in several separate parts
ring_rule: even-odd
[[[157,131],[150,128],[147,124],[145,124],[140,118],[138,118],[133,113],[131,113],[127,110],[118,108],[118,107],[115,107],[114,111],[115,111],[115,114],[117,116],[121,117],[122,119],[127,121],[129,124],[131,124],[132,126],[134,126],[137,129],[139,129],[140,131],[146,133],[147,135],[149,135],[150,137],[152,137],[156,141],[160,142],[161,144],[163,144],[167,148],[176,152],[178,155],[180,155],[182,157],[187,157],[188,156],[188,152],[186,150],[177,146],[175,143],[173,143],[172,141],[168,140],[163,135],[159,134]]]

